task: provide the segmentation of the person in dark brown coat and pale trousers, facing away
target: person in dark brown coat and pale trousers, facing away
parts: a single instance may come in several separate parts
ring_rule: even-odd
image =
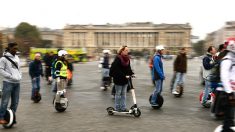
[[[174,83],[172,87],[172,94],[179,94],[176,87],[177,85],[183,86],[184,84],[184,77],[187,72],[187,51],[186,48],[181,48],[179,54],[177,55],[174,61]]]

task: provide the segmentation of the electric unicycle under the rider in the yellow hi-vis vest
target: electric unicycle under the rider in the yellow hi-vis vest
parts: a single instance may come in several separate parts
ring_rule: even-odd
[[[64,112],[68,107],[68,99],[65,97],[66,90],[57,91],[53,99],[53,105],[58,112]],[[56,98],[59,98],[58,102]]]

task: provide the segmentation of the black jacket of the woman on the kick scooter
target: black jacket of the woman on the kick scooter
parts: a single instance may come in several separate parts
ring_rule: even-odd
[[[134,73],[131,70],[130,63],[128,66],[123,66],[121,60],[116,57],[111,65],[109,76],[113,77],[113,82],[116,85],[125,85],[128,83],[126,76],[131,76]]]

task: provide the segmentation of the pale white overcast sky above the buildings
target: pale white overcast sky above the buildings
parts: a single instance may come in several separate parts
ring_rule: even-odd
[[[190,23],[204,39],[235,20],[235,0],[1,0],[0,27],[28,22],[62,29],[66,24]]]

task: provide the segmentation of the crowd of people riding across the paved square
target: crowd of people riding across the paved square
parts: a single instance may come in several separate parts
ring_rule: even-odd
[[[4,115],[11,98],[10,108],[16,112],[19,103],[20,80],[22,73],[19,67],[19,57],[16,55],[18,50],[17,43],[9,43],[8,47],[0,59],[0,74],[3,76],[2,102],[0,107],[0,124],[5,124]],[[113,80],[113,94],[115,94],[115,110],[120,112],[128,111],[126,108],[126,92],[128,87],[128,78],[134,76],[134,72],[130,64],[129,49],[122,46],[118,50],[117,56],[110,65],[109,50],[104,50],[102,64],[102,80],[101,89],[105,89],[105,81]],[[151,71],[152,82],[155,89],[152,93],[150,104],[158,106],[157,97],[163,90],[163,82],[165,80],[164,64],[162,56],[165,48],[162,45],[156,46],[155,54],[151,57],[149,68]],[[48,53],[43,58],[45,63],[45,72],[41,54],[36,53],[35,58],[29,64],[29,75],[32,81],[31,99],[34,99],[36,92],[40,91],[40,78],[46,77],[48,84],[52,84],[53,91],[65,89],[66,85],[71,85],[73,65],[66,60],[67,51],[58,50],[56,56]],[[178,85],[184,85],[185,74],[187,72],[187,49],[181,48],[177,57],[173,62],[173,76],[170,83],[170,91],[172,94],[179,94]],[[216,92],[216,101],[220,99],[220,95],[226,96],[223,100],[223,112],[225,115],[223,131],[230,132],[231,126],[234,126],[234,106],[235,106],[235,40],[231,39],[221,44],[218,52],[214,46],[208,47],[207,54],[202,59],[203,78],[205,80],[205,88],[203,94],[202,105],[208,101],[209,92],[216,90],[216,85],[221,83],[223,89]],[[112,78],[112,79],[111,79]],[[108,79],[108,80],[107,80]],[[68,81],[70,80],[70,81]],[[58,101],[57,99],[55,99]],[[221,101],[220,101],[221,102]],[[15,121],[16,123],[16,121]]]

